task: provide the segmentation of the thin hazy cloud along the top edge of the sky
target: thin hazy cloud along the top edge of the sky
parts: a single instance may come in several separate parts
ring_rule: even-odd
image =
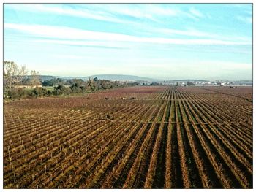
[[[137,20],[151,20],[157,23],[163,23],[161,18],[192,18],[197,20],[203,17],[203,14],[197,9],[190,9],[189,12],[178,8],[162,7],[158,4],[133,5],[129,6],[120,4],[94,4],[88,8],[85,6],[54,6],[49,4],[8,4],[8,7],[14,10],[23,10],[26,12],[50,13],[56,15],[68,15],[78,18],[89,18],[94,20],[102,20],[113,23],[129,23],[135,24],[129,18]],[[100,11],[99,11],[100,9]],[[120,18],[120,16],[128,16],[129,18]]]

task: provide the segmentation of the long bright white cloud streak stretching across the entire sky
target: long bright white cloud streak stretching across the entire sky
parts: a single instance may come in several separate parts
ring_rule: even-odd
[[[138,42],[170,45],[250,45],[251,42],[233,42],[219,39],[170,39],[162,37],[136,37],[126,34],[98,32],[69,28],[64,26],[25,25],[4,23],[4,28],[11,28],[35,37],[54,39],[88,39],[107,42]],[[181,31],[174,31],[181,33]]]

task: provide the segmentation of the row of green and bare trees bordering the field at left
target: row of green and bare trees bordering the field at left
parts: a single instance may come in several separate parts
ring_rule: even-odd
[[[53,78],[42,81],[39,78],[39,72],[31,71],[31,75],[28,74],[29,71],[26,66],[18,66],[13,61],[4,61],[4,101],[45,96],[80,95],[95,93],[99,90],[138,85],[137,82],[99,80],[97,77],[89,80]],[[43,86],[51,88],[44,88]]]

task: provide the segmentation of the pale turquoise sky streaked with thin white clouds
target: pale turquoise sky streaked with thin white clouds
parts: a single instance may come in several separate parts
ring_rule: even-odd
[[[252,4],[4,4],[4,61],[54,76],[252,80]]]

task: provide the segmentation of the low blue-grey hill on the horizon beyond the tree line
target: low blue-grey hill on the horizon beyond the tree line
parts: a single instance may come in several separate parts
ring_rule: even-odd
[[[135,75],[126,75],[126,74],[95,74],[88,77],[85,77],[86,80],[89,78],[93,79],[97,77],[99,80],[128,80],[128,81],[157,81],[156,79],[151,79],[148,77],[139,77]]]

